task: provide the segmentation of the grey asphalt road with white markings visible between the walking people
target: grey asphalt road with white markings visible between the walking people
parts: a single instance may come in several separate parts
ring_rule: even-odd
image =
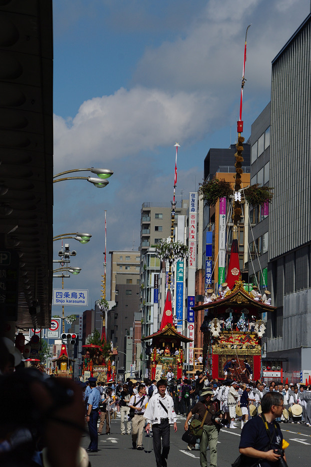
[[[199,450],[189,451],[186,443],[181,439],[184,432],[185,417],[178,417],[177,432],[174,433],[171,427],[171,448],[168,456],[168,467],[180,467],[190,464],[191,466],[200,465]],[[238,426],[240,423],[238,423]],[[104,426],[105,429],[105,426]],[[288,467],[309,467],[311,459],[311,427],[302,424],[281,423],[283,437],[289,442],[287,447],[286,459]],[[132,437],[120,434],[120,418],[112,420],[111,435],[102,435],[98,437],[99,451],[90,453],[92,467],[102,467],[103,462],[109,467],[120,467],[124,462],[129,465],[144,465],[155,467],[155,456],[153,450],[151,453],[132,449]],[[241,429],[221,429],[218,438],[218,467],[231,467],[231,463],[239,455],[238,445]],[[82,437],[81,445],[88,447],[89,437]],[[208,451],[207,451],[208,452]],[[208,458],[208,454],[207,454]]]

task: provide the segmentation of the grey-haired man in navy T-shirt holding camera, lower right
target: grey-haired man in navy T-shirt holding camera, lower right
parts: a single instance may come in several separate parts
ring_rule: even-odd
[[[283,435],[276,418],[284,408],[283,395],[271,391],[261,399],[262,413],[243,427],[239,444],[240,456],[232,467],[287,467]]]

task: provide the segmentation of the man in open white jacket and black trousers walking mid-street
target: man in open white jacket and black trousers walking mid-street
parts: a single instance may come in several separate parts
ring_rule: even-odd
[[[166,459],[170,450],[170,424],[173,424],[174,431],[177,431],[174,402],[172,397],[167,394],[166,387],[165,379],[160,379],[157,382],[158,392],[153,394],[144,413],[144,418],[147,420],[146,431],[150,430],[150,423],[152,423],[153,450],[157,467],[167,467]]]

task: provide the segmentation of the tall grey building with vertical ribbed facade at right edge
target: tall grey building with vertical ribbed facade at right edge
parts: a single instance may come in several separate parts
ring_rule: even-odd
[[[310,54],[311,14],[272,60],[267,357],[289,374],[311,367]]]

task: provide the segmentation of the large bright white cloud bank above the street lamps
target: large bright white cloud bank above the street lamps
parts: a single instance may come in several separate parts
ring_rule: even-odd
[[[141,86],[85,101],[66,122],[55,116],[54,153],[57,169],[76,164],[111,162],[142,150],[170,145],[176,138],[205,134],[214,98],[208,94],[165,92]]]

